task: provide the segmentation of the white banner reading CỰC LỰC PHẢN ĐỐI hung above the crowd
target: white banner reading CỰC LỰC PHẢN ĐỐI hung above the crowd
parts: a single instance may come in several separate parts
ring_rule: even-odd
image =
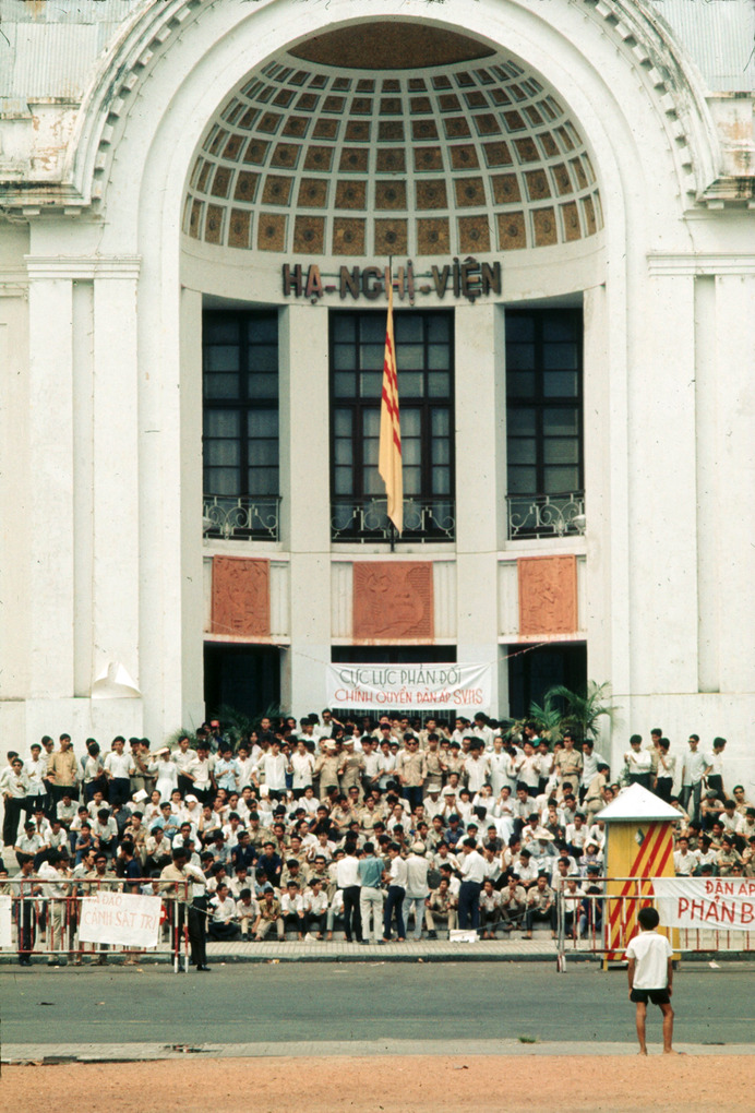
[[[396,710],[489,711],[491,664],[330,664],[331,707]]]

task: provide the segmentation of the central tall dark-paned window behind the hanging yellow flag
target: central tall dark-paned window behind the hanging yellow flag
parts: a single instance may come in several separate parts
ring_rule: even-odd
[[[450,313],[394,315],[406,538],[453,538]],[[333,536],[388,538],[378,472],[385,313],[331,315]]]

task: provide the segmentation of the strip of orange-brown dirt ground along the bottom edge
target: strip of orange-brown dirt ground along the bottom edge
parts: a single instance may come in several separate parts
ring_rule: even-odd
[[[753,1060],[463,1055],[6,1066],[0,1109],[107,1113],[754,1113]]]

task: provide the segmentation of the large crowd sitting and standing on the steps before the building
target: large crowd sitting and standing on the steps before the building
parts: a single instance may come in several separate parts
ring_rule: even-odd
[[[0,884],[26,894],[24,964],[40,924],[51,951],[80,962],[76,902],[102,884],[180,894],[173,927],[186,925],[199,971],[207,937],[532,937],[539,924],[556,934],[559,903],[577,937],[600,927],[599,812],[626,785],[678,811],[677,874],[755,876],[755,808],[743,786],[726,789],[725,746],[690,735],[677,756],[659,729],[648,745],[633,735],[611,778],[591,738],[551,741],[535,722],[506,733],[484,715],[339,721],[325,709],[262,717],[233,741],[212,720],[157,747],[87,739],[78,756],[68,735],[46,737],[0,772],[19,869]]]

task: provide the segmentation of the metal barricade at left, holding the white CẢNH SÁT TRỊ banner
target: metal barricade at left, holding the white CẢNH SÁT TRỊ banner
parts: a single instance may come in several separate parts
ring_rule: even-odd
[[[11,946],[0,947],[0,956],[14,954],[22,965],[32,958],[47,958],[49,965],[106,965],[118,959],[134,965],[146,955],[169,959],[177,973],[188,969],[189,904],[186,883],[151,883],[139,895],[160,898],[159,938],[156,947],[135,948],[114,943],[87,943],[79,938],[81,902],[98,892],[129,893],[134,887],[110,877],[22,877],[6,881],[10,896]],[[183,890],[183,892],[182,892]]]

